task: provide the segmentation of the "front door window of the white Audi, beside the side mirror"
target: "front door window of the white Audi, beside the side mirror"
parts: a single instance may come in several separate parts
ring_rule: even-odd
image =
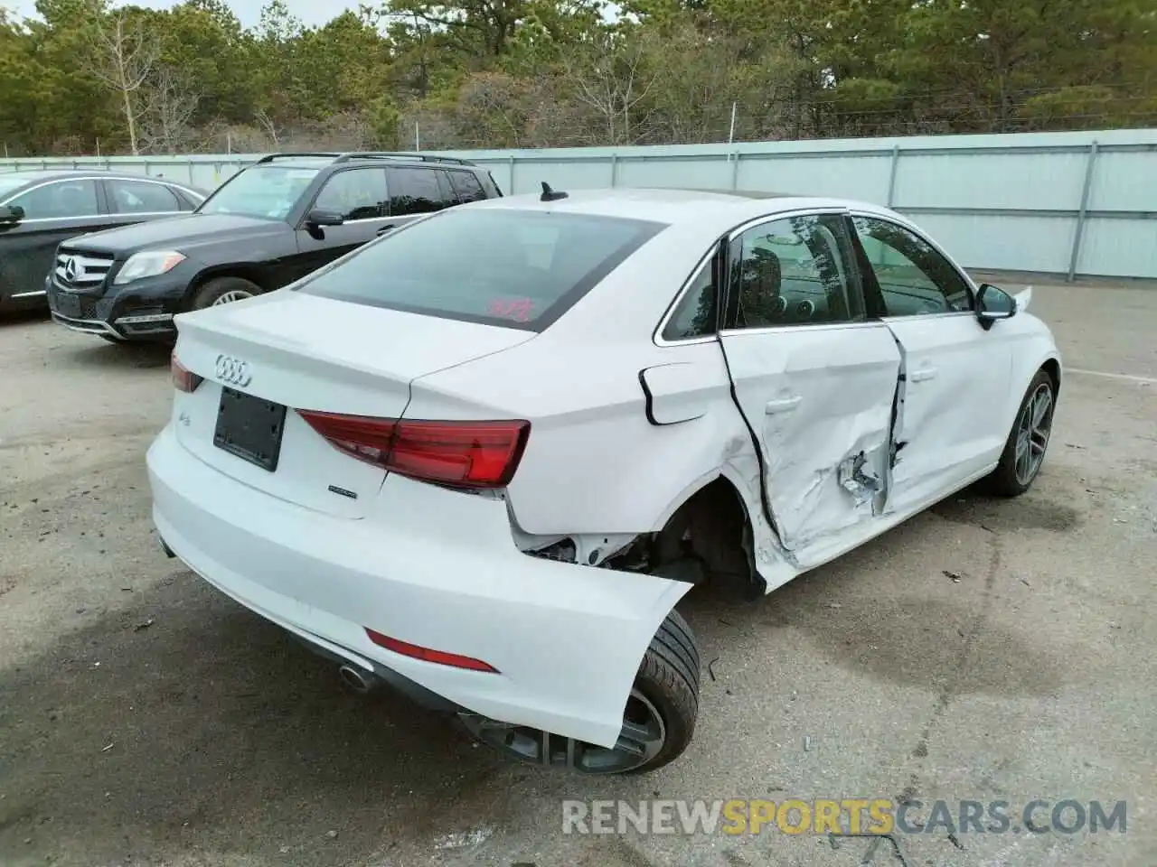
[[[927,240],[886,220],[854,217],[887,316],[972,310],[968,284]]]

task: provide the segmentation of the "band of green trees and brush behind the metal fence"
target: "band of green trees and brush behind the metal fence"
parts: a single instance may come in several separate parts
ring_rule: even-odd
[[[251,29],[228,0],[0,12],[0,140],[15,156],[1157,124],[1157,0],[374,3],[312,28],[283,0]],[[135,77],[110,75],[97,38],[118,17],[143,44]]]

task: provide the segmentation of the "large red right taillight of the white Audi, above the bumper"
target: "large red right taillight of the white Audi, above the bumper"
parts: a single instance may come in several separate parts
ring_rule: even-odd
[[[359,460],[458,488],[503,488],[522,460],[530,422],[435,422],[297,413],[334,447]]]

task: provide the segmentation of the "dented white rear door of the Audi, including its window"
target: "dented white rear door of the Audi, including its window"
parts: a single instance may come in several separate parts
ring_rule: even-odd
[[[862,535],[887,496],[900,350],[867,321],[847,224],[804,214],[729,244],[721,342],[790,551]]]

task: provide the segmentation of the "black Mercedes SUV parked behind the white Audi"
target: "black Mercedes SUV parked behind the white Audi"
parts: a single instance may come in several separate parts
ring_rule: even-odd
[[[420,214],[500,195],[466,160],[271,154],[192,214],[61,243],[49,305],[105,340],[171,340],[176,313],[279,289]]]

